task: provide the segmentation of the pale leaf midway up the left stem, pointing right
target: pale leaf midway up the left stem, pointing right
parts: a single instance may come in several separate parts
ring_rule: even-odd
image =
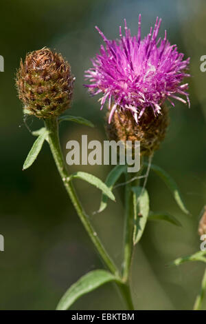
[[[80,172],[79,171],[79,172],[71,174],[70,179],[71,178],[82,179],[84,181],[87,181],[87,182],[91,183],[91,185],[95,185],[95,187],[102,190],[102,192],[104,194],[106,194],[106,196],[108,196],[108,198],[115,201],[115,196],[111,192],[111,189],[109,189],[107,187],[107,185],[105,185],[105,183],[102,182],[102,180],[100,180],[96,176],[93,176],[93,174],[89,174],[87,172]]]

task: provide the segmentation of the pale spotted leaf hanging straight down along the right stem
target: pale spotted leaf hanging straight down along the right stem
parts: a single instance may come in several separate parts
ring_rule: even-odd
[[[133,232],[134,245],[139,242],[146,227],[148,215],[150,212],[150,201],[148,192],[141,187],[133,187],[133,203],[135,214],[135,226]]]

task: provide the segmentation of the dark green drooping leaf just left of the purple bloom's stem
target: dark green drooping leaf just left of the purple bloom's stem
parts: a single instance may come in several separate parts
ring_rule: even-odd
[[[105,184],[110,190],[113,190],[113,186],[119,179],[119,176],[121,176],[122,173],[126,172],[126,168],[127,168],[126,165],[116,165],[115,168],[113,168],[113,170],[109,172]],[[107,201],[108,201],[108,196],[106,196],[106,194],[102,194],[102,199],[100,202],[100,208],[98,212],[103,212],[103,210],[105,210]]]

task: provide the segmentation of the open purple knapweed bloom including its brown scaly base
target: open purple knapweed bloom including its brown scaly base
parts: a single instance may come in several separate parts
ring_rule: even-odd
[[[117,40],[108,40],[99,30],[105,47],[92,59],[93,68],[85,72],[91,94],[101,94],[101,109],[108,101],[106,132],[115,141],[140,141],[141,155],[152,155],[159,148],[168,128],[168,100],[188,103],[188,83],[183,83],[190,59],[157,38],[161,19],[141,39],[141,15],[137,35],[131,36],[124,21],[125,35],[119,27]]]

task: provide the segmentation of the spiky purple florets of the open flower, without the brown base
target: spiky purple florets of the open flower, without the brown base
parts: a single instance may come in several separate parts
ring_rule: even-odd
[[[100,54],[92,59],[93,68],[85,72],[91,84],[85,85],[91,94],[102,94],[101,109],[108,100],[111,110],[108,123],[115,110],[130,110],[138,119],[148,107],[152,107],[155,116],[161,113],[161,105],[168,99],[174,106],[173,99],[190,106],[188,83],[181,84],[187,74],[190,59],[183,60],[183,54],[176,45],[170,45],[165,31],[164,39],[157,39],[161,19],[157,17],[155,28],[141,39],[141,15],[137,35],[131,36],[125,24],[125,35],[119,27],[120,39],[110,41],[103,32],[96,29],[105,43],[100,47]],[[183,99],[180,96],[185,96]]]

